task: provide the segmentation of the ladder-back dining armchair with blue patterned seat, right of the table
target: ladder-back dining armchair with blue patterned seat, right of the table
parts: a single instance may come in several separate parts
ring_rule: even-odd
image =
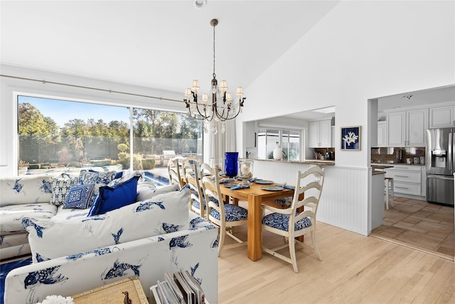
[[[296,188],[289,209],[278,209],[272,206],[262,205],[264,211],[271,211],[262,217],[262,229],[279,234],[287,239],[287,243],[275,248],[266,248],[262,250],[281,258],[283,261],[291,263],[294,272],[299,273],[296,261],[296,244],[305,246],[303,242],[296,240],[299,236],[311,234],[311,242],[319,261],[322,261],[318,244],[316,243],[316,211],[318,210],[319,199],[321,197],[324,181],[324,171],[318,166],[310,167],[305,172],[298,172]],[[304,199],[299,199],[303,194]],[[299,213],[299,208],[304,207],[304,211]],[[289,246],[290,258],[277,251]]]

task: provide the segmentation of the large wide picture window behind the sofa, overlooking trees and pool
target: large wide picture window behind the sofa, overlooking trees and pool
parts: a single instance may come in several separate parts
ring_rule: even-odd
[[[31,173],[132,165],[165,175],[169,158],[202,159],[202,134],[185,113],[18,96],[19,167]]]

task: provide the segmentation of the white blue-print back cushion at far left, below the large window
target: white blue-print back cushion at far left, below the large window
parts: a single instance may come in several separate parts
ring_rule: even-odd
[[[0,179],[0,206],[48,203],[52,196],[52,178],[59,174],[23,175]]]

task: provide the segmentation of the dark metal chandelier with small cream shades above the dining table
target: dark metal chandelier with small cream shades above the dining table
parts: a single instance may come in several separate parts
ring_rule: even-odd
[[[218,85],[215,74],[215,26],[218,25],[218,20],[212,19],[210,25],[213,26],[213,79],[210,85],[210,93],[203,93],[202,100],[198,99],[199,81],[193,80],[191,88],[186,89],[186,99],[183,99],[183,101],[186,104],[186,108],[188,108],[188,115],[204,121],[205,132],[208,132],[208,124],[212,121],[220,122],[221,132],[224,132],[224,122],[234,119],[242,112],[246,98],[242,97],[242,87],[238,87],[236,90],[238,100],[234,103],[231,93],[227,92],[228,83],[226,80],[221,80],[220,85]],[[193,100],[191,100],[191,97],[193,97]],[[213,134],[218,132],[215,123],[210,127],[210,132]]]

